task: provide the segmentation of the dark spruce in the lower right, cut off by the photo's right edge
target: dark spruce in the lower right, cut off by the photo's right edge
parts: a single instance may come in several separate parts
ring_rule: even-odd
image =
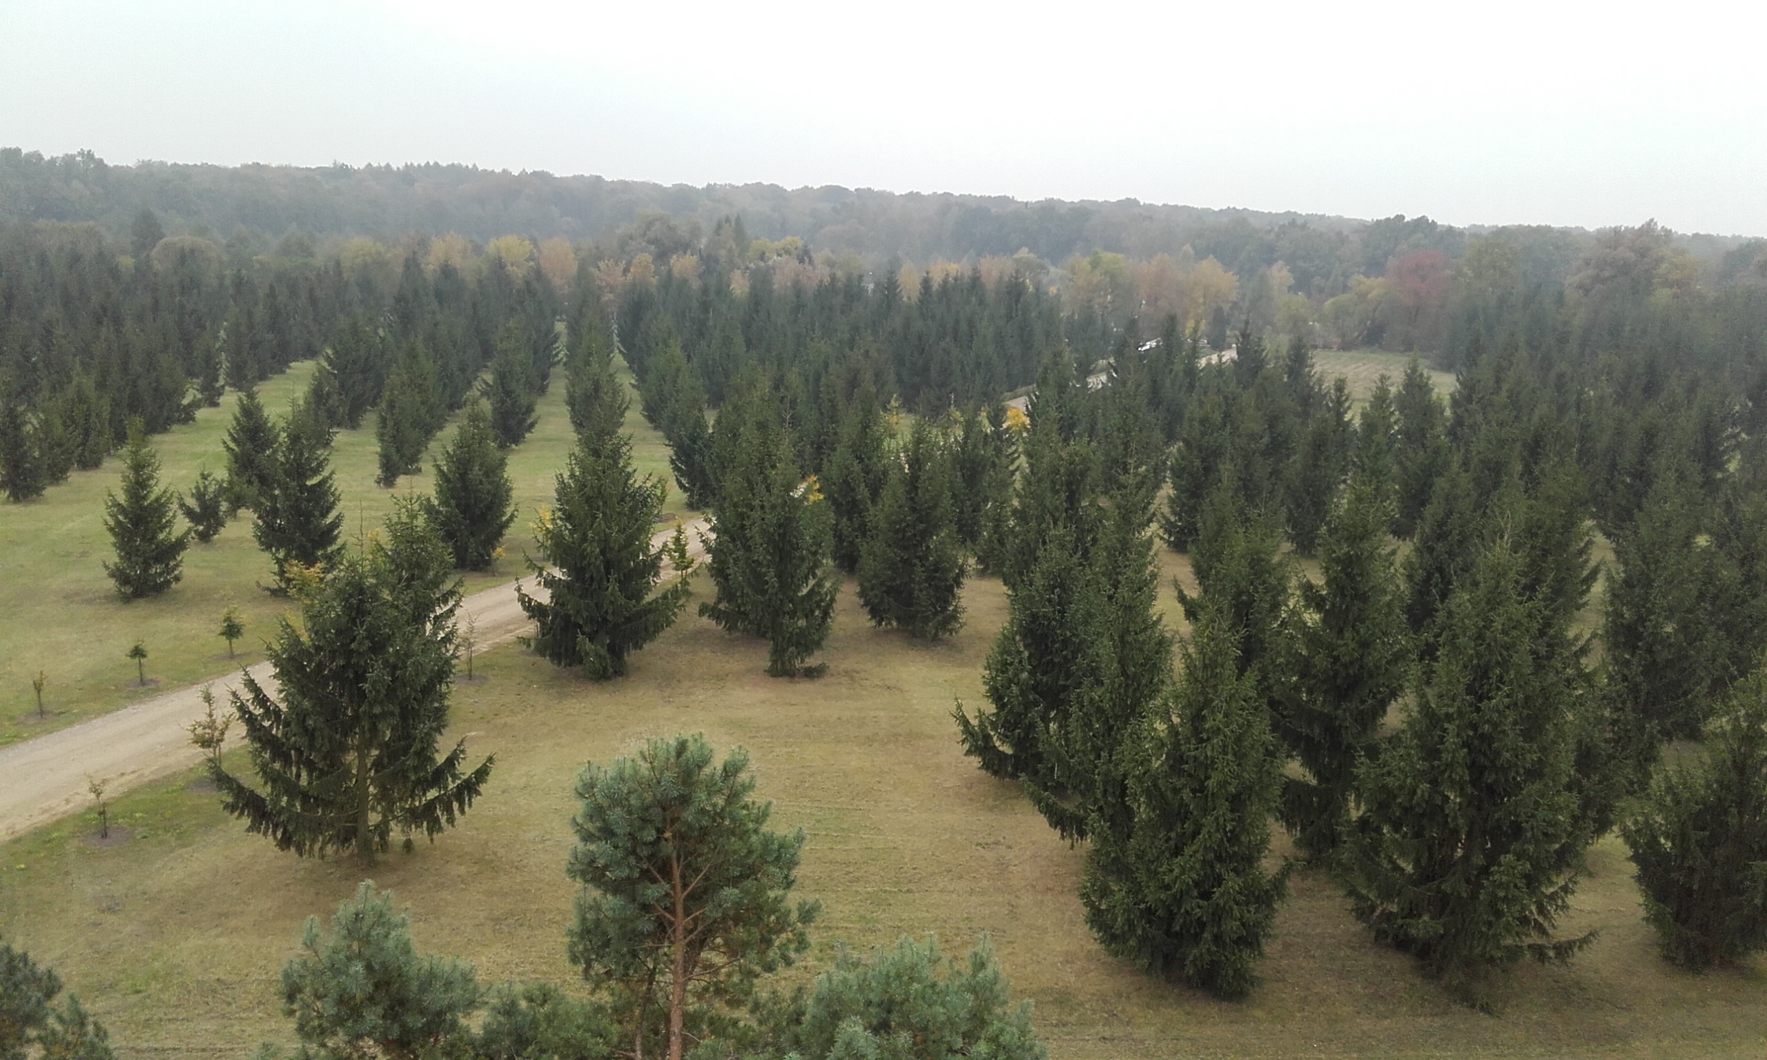
[[[1767,949],[1767,666],[1733,687],[1705,756],[1661,768],[1620,832],[1668,959],[1705,970]]]

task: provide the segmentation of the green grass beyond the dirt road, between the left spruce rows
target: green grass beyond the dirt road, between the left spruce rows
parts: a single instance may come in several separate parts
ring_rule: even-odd
[[[260,398],[272,415],[281,415],[306,387],[311,362],[269,380]],[[539,428],[509,454],[509,473],[516,488],[519,514],[505,542],[507,558],[497,574],[474,574],[468,588],[482,588],[525,572],[523,549],[534,548],[530,521],[535,509],[551,502],[553,475],[564,466],[574,438],[564,408],[564,373],[541,399]],[[161,482],[187,489],[196,472],[226,470],[221,438],[233,417],[235,396],[219,408],[205,408],[194,424],[175,428],[154,438],[163,470]],[[634,401],[636,406],[636,401]],[[668,450],[636,412],[627,424],[638,436],[636,456],[641,470],[668,477]],[[444,429],[435,445],[451,436]],[[431,449],[431,454],[438,449]],[[401,479],[398,489],[375,484],[375,419],[360,429],[339,431],[332,450],[332,468],[343,493],[345,535],[353,539],[364,526],[378,525],[392,507],[392,498],[406,491],[428,493],[435,488],[429,465],[424,472]],[[191,544],[184,560],[184,581],[161,597],[124,602],[117,597],[102,562],[111,558],[104,534],[104,491],[115,489],[120,459],[102,468],[74,475],[28,504],[0,504],[0,744],[62,728],[154,694],[200,682],[242,661],[262,655],[263,638],[272,636],[277,615],[288,602],[260,588],[270,581],[269,560],[251,537],[249,512],[230,523],[210,544]],[[237,604],[246,617],[240,659],[226,657],[226,645],[216,636],[221,613]],[[155,687],[136,685],[136,668],[125,657],[134,641],[148,650],[147,671]],[[37,721],[30,682],[44,671],[44,705],[49,719]]]

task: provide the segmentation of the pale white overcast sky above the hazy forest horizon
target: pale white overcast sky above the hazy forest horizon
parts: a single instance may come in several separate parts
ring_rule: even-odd
[[[0,145],[1767,235],[1762,4],[0,0]]]

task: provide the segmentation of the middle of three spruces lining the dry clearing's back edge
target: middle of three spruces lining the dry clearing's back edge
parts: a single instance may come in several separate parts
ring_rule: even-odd
[[[717,595],[700,615],[723,629],[765,638],[772,677],[816,675],[841,588],[829,505],[799,479],[783,431],[753,429],[723,484],[707,546]]]

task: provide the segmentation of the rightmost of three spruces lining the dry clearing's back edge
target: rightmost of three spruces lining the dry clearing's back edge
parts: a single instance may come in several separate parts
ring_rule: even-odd
[[[951,452],[915,420],[889,482],[871,509],[859,562],[859,599],[876,625],[938,640],[963,624],[967,560],[952,521]]]

